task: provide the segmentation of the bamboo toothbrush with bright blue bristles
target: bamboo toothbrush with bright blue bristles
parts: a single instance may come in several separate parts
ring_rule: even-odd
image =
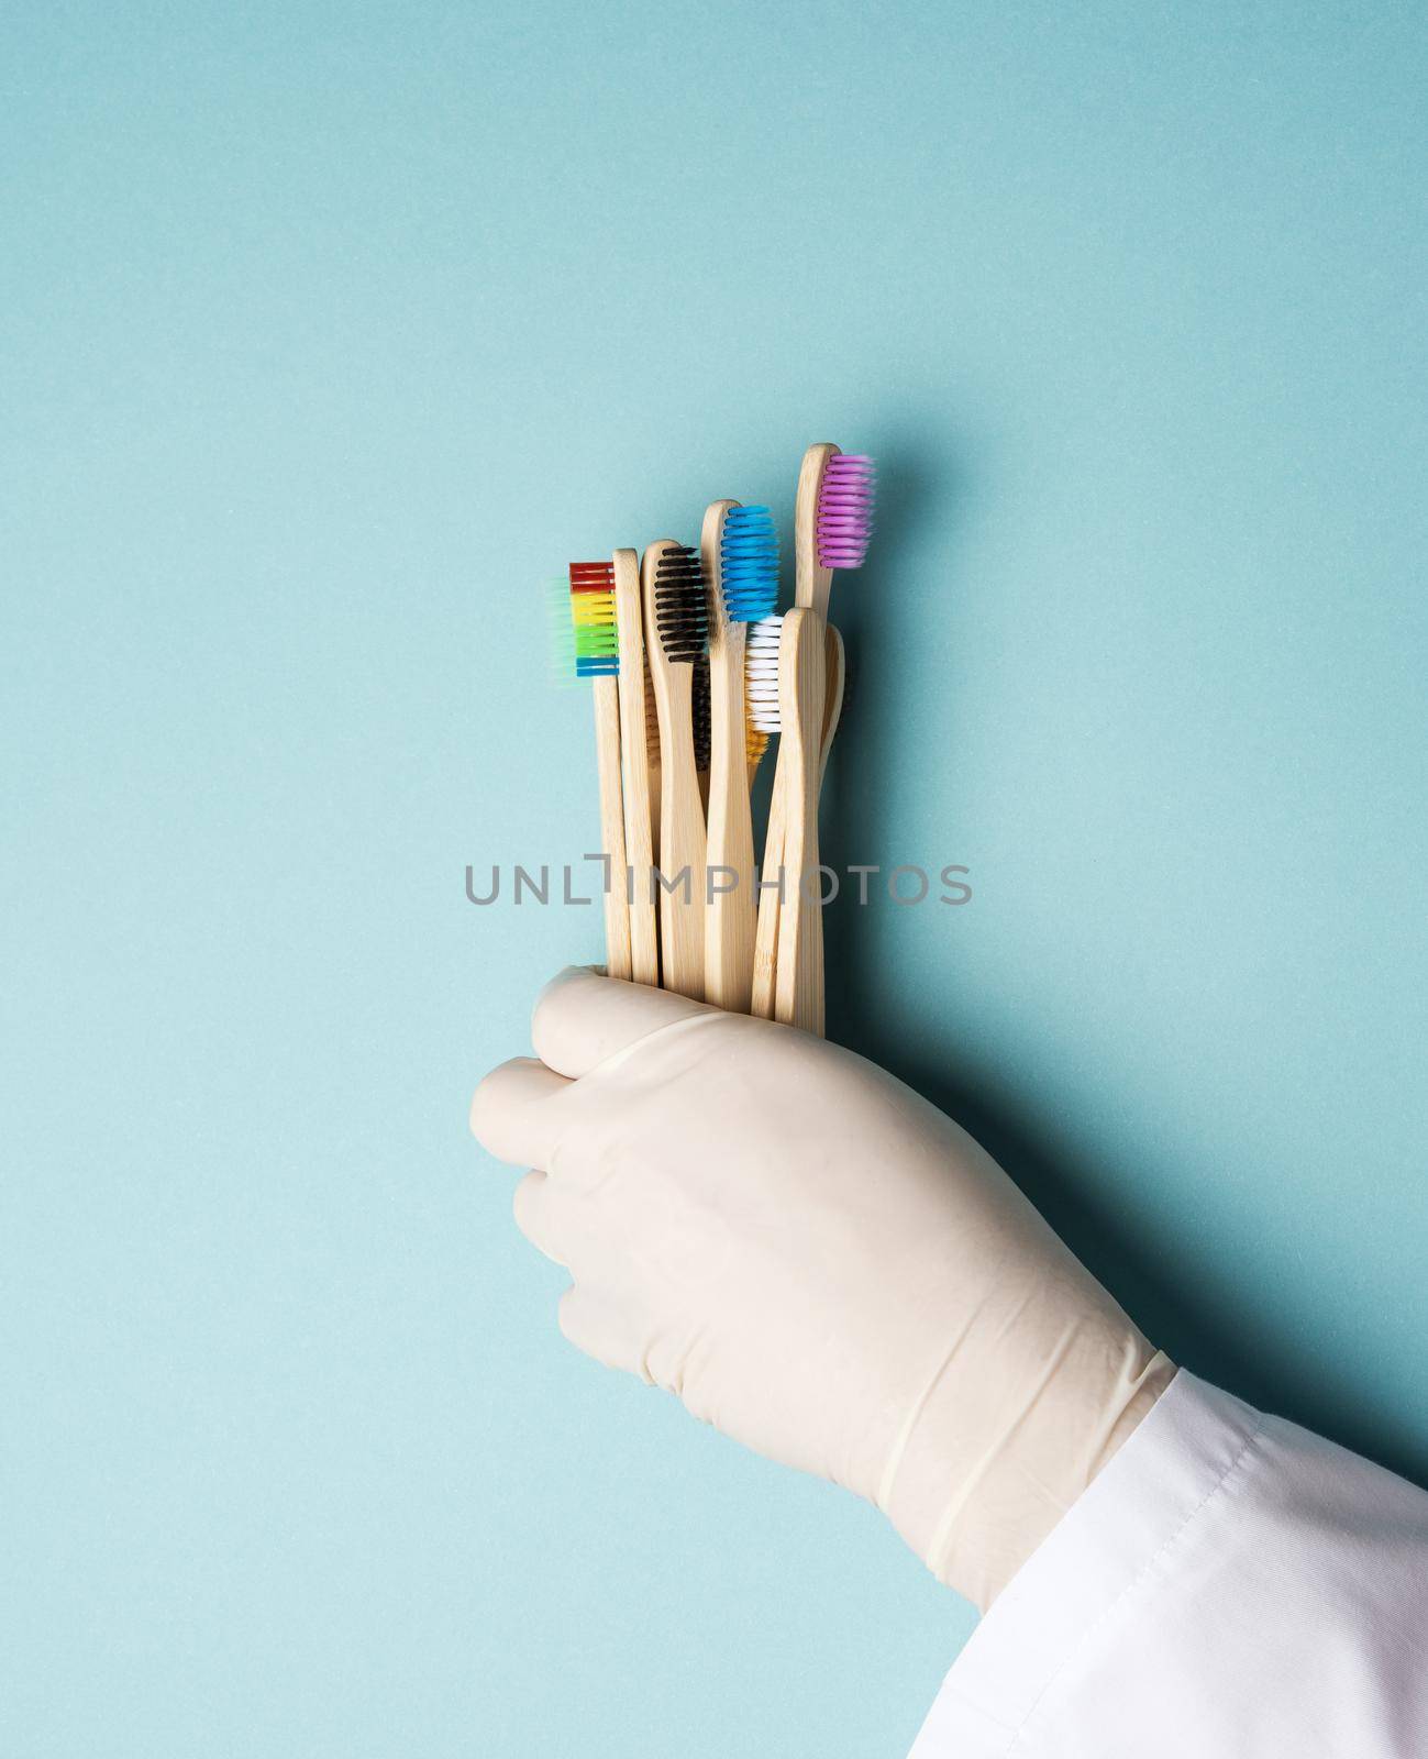
[[[749,816],[751,739],[744,700],[746,637],[779,593],[779,540],[767,507],[714,501],[700,538],[709,580],[709,872],[725,887],[705,901],[705,1001],[747,1013],[754,962],[754,834]]]

